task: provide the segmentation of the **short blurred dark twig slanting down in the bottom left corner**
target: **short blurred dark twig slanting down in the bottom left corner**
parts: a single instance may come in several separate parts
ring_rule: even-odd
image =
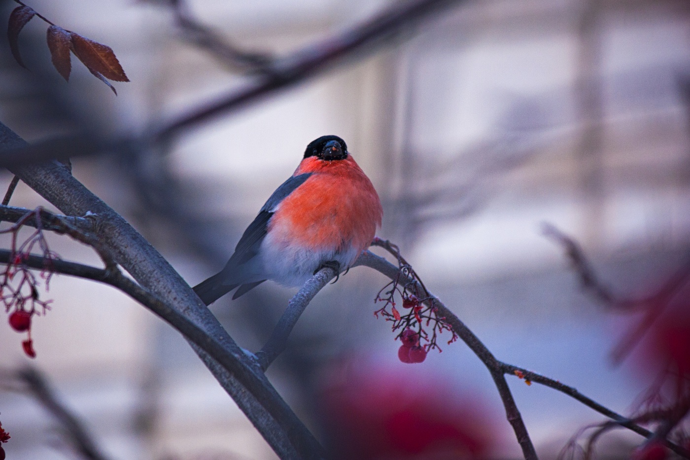
[[[72,445],[77,448],[81,457],[89,460],[107,460],[97,448],[83,423],[72,414],[60,401],[55,391],[52,390],[46,377],[33,367],[26,367],[17,372],[17,376],[26,383],[28,391],[59,421],[66,429]]]

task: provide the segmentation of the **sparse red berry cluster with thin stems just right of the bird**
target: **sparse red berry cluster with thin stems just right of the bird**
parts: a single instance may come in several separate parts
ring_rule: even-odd
[[[400,361],[421,363],[432,349],[442,351],[437,341],[444,331],[451,335],[449,345],[457,340],[457,334],[446,322],[446,318],[438,315],[435,299],[428,295],[417,273],[400,256],[400,249],[391,242],[386,242],[385,247],[397,258],[400,270],[395,279],[376,295],[375,302],[383,302],[384,306],[377,309],[374,315],[377,318],[381,315],[386,321],[393,323],[391,328],[393,332],[397,332],[395,338],[402,341],[398,350]],[[423,293],[420,293],[418,287],[422,287]],[[402,312],[396,307],[396,297],[402,300]]]

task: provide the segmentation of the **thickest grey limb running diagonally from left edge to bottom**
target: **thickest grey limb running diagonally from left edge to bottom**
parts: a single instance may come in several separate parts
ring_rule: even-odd
[[[0,148],[20,148],[25,145],[26,142],[19,136],[7,126],[0,124]],[[194,345],[202,361],[279,457],[287,459],[322,457],[321,445],[304,427],[304,424],[294,416],[285,401],[275,393],[255,362],[237,346],[215,316],[177,274],[177,271],[135,229],[132,229],[126,220],[88,191],[56,162],[14,166],[12,172],[43,198],[61,209],[63,213],[97,214],[95,237],[107,247],[113,260],[124,267],[141,284],[141,287],[149,289],[152,294],[164,300],[172,311],[192,321],[195,327],[199,327],[209,338],[213,338],[215,345],[228,353],[226,359],[224,358],[225,361],[232,361],[233,365],[242,369],[242,372],[252,374],[252,378],[257,378],[262,383],[262,387],[256,391],[263,392],[262,394],[269,393],[271,403],[269,407],[265,407],[250,389],[244,387],[239,376],[225,367],[229,363],[216,361],[210,354],[204,352],[204,349]],[[286,417],[293,423],[281,425],[279,420],[284,420]]]

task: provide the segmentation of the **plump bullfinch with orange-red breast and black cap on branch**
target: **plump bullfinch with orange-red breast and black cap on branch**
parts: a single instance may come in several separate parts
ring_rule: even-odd
[[[321,136],[270,195],[225,267],[193,289],[210,305],[235,288],[233,300],[266,280],[302,286],[322,267],[339,276],[369,247],[382,218],[379,195],[345,141]]]

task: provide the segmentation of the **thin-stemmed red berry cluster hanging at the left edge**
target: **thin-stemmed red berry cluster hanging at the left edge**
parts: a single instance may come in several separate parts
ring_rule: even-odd
[[[34,231],[23,240],[19,238],[19,231],[32,222]],[[27,332],[27,338],[21,343],[24,352],[31,358],[36,357],[33,341],[31,339],[31,320],[34,315],[46,314],[50,309],[52,300],[41,300],[38,287],[45,285],[46,290],[52,277],[52,261],[59,257],[50,251],[48,242],[43,234],[41,222],[41,208],[34,209],[23,216],[12,227],[0,231],[0,234],[9,234],[10,261],[0,271],[0,298],[5,306],[5,312],[10,313],[8,321],[12,329],[17,332]],[[21,242],[20,242],[21,241]],[[43,271],[37,277],[27,266],[31,251],[37,249],[43,256]]]

